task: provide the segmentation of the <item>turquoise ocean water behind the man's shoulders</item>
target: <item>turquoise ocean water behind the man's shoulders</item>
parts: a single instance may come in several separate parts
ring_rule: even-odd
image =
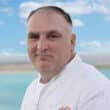
[[[101,69],[110,79],[110,69]],[[36,72],[0,72],[0,110],[19,110],[29,83],[37,77]]]

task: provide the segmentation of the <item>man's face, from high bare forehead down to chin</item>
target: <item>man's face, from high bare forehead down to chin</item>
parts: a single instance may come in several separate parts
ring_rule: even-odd
[[[57,74],[68,63],[74,48],[71,26],[56,12],[41,10],[28,21],[28,54],[41,73]]]

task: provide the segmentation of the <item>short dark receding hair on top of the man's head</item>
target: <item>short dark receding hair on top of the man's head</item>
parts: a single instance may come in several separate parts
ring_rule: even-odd
[[[72,19],[71,19],[70,15],[67,12],[65,12],[62,8],[57,7],[57,6],[42,6],[40,8],[37,8],[30,12],[30,14],[27,18],[27,21],[29,21],[29,19],[31,18],[31,16],[34,13],[38,12],[41,9],[50,9],[50,10],[60,13],[65,18],[65,20],[72,26]]]

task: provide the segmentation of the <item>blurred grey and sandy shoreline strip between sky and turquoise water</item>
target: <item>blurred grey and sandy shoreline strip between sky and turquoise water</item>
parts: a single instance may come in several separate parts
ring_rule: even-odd
[[[110,54],[80,53],[81,59],[98,69],[110,69]],[[27,56],[0,56],[0,72],[2,71],[33,71],[31,61]]]

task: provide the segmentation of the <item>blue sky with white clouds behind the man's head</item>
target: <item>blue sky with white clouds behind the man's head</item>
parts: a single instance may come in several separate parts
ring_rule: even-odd
[[[50,4],[70,13],[77,52],[110,53],[110,0],[0,0],[0,55],[26,54],[26,17]]]

